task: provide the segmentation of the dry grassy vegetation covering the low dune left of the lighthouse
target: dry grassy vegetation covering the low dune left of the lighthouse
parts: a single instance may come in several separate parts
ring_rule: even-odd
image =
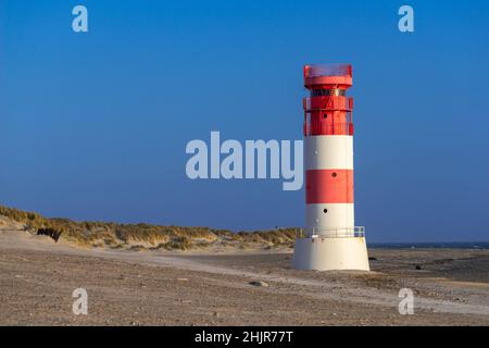
[[[61,233],[61,239],[85,247],[130,250],[187,250],[215,245],[238,248],[248,245],[291,247],[296,238],[296,228],[234,233],[209,227],[76,222],[68,219],[48,219],[35,212],[2,206],[0,215],[22,224],[26,231],[33,233],[41,228],[52,228]]]

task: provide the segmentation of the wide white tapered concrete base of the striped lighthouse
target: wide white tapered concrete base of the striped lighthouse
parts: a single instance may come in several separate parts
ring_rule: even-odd
[[[293,249],[293,268],[316,271],[369,271],[365,238],[319,236],[297,238]]]

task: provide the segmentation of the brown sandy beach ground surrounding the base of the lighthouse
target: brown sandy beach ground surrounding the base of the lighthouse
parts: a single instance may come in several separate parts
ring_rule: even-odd
[[[489,250],[369,254],[369,273],[296,271],[288,249],[82,249],[0,229],[0,325],[489,325]],[[87,315],[72,312],[79,287]]]

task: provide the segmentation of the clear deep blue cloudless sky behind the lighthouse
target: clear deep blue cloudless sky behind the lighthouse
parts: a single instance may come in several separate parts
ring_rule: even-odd
[[[415,32],[400,33],[411,4]],[[72,30],[72,9],[89,32]],[[302,65],[353,64],[369,241],[489,240],[488,1],[0,1],[0,204],[302,226],[281,181],[190,181],[187,141],[301,139]]]

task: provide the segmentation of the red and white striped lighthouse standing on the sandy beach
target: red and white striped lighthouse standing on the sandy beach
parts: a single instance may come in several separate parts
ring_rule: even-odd
[[[352,66],[305,65],[303,73],[305,228],[293,266],[369,271],[365,228],[354,223]]]

